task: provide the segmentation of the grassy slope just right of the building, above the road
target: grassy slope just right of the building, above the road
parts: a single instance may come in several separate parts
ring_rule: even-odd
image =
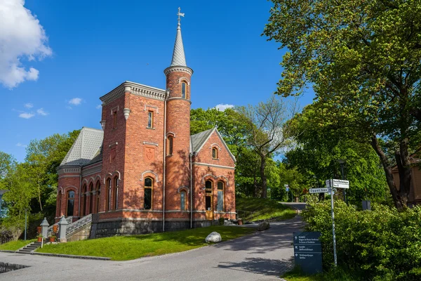
[[[295,211],[280,204],[276,200],[265,198],[236,198],[237,218],[244,221],[257,221],[268,218],[286,219],[293,218]],[[238,211],[241,210],[241,211]],[[242,211],[254,211],[253,216]]]

